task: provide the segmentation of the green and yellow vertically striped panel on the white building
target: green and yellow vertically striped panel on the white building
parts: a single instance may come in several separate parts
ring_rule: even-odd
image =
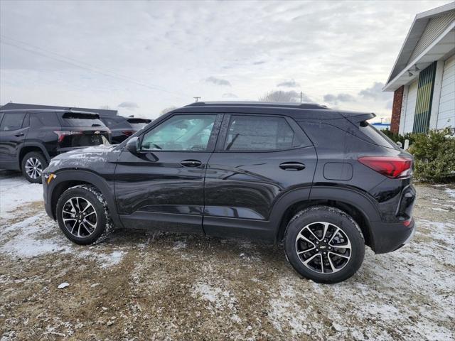
[[[432,113],[434,77],[436,75],[436,63],[426,67],[419,75],[417,87],[417,102],[415,104],[413,133],[427,133],[429,118]]]

